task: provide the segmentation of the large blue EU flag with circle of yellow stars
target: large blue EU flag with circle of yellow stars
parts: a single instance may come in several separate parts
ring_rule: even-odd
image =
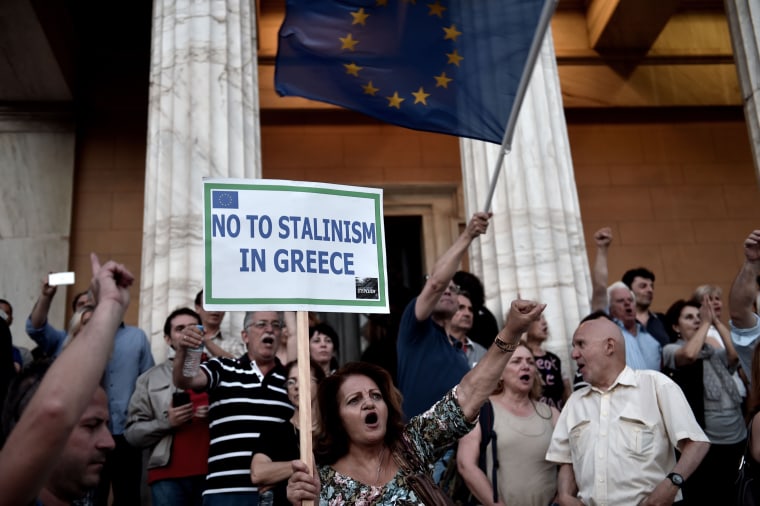
[[[275,88],[500,144],[545,2],[287,0]]]

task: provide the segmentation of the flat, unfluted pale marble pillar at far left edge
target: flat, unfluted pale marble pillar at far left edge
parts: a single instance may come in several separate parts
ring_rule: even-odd
[[[69,270],[74,144],[68,113],[0,110],[0,298],[13,306],[14,343],[30,349],[24,323],[42,282]],[[65,315],[61,287],[48,321],[66,328]]]

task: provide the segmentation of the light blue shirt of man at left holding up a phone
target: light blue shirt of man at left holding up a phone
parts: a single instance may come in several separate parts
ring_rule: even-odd
[[[27,318],[26,333],[49,356],[60,355],[66,339],[65,331],[53,328],[47,322],[40,328],[34,328],[31,318]],[[124,432],[129,399],[135,391],[137,377],[154,365],[150,342],[145,332],[122,323],[116,331],[111,360],[106,364],[103,375],[103,384],[108,394],[108,428],[111,434],[119,435]]]

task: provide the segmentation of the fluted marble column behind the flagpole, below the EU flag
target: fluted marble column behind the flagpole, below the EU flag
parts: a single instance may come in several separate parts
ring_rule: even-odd
[[[485,206],[499,146],[462,139],[461,150],[469,217]],[[499,320],[518,293],[547,304],[547,348],[570,371],[572,334],[589,312],[591,282],[550,32],[499,170],[491,225],[470,249],[472,272]]]

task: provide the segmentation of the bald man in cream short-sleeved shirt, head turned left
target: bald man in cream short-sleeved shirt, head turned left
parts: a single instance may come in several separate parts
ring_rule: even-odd
[[[623,334],[606,318],[581,323],[572,357],[589,386],[568,399],[546,452],[560,466],[559,504],[681,500],[710,444],[678,385],[626,366]]]

